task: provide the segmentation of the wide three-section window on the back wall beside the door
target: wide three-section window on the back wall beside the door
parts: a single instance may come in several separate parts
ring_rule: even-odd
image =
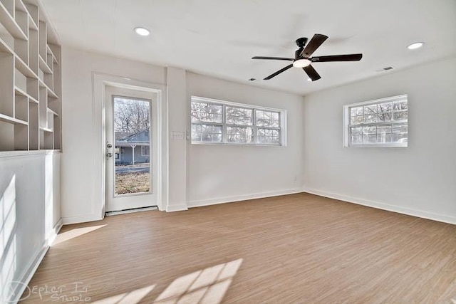
[[[192,144],[284,145],[284,110],[192,96]]]

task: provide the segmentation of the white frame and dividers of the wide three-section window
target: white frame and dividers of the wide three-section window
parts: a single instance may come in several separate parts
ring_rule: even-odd
[[[222,122],[192,122],[191,112],[192,112],[192,102],[197,103],[208,103],[212,105],[222,105]],[[245,108],[252,110],[252,125],[232,125],[227,124],[226,122],[226,107],[237,107]],[[217,100],[213,98],[204,98],[199,96],[192,96],[190,99],[190,112],[188,117],[190,117],[190,143],[192,145],[242,145],[242,146],[267,146],[267,147],[286,147],[286,125],[287,125],[287,113],[284,109],[276,108],[267,108],[259,105],[247,105],[245,103],[233,103],[226,100]],[[257,112],[256,110],[264,110],[269,112],[279,112],[279,127],[259,127],[257,126]],[[192,141],[192,125],[215,125],[222,126],[222,142],[193,142]],[[253,140],[250,143],[244,142],[227,142],[227,127],[252,127],[253,129]],[[278,144],[265,144],[259,143],[257,140],[258,129],[270,129],[270,130],[279,130],[279,143]]]

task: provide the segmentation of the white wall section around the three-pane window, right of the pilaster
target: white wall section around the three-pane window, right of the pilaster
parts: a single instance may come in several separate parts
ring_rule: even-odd
[[[192,95],[287,110],[288,145],[190,145],[187,142],[189,206],[299,192],[304,98],[187,73],[187,112]],[[188,119],[187,122],[190,128]]]

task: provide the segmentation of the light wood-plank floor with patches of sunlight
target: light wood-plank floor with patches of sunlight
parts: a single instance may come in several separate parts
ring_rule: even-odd
[[[43,300],[456,299],[456,226],[311,194],[110,216],[64,226],[58,238],[29,284],[47,286]],[[38,288],[21,303],[41,303]]]

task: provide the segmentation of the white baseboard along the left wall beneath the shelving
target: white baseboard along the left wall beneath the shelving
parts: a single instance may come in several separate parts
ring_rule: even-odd
[[[26,290],[26,287],[28,286],[28,283],[30,283],[31,279],[33,278],[33,275],[36,273],[36,269],[38,269],[38,266],[40,266],[41,261],[43,261],[44,256],[46,256],[46,253],[48,252],[48,249],[50,248],[51,243],[53,243],[54,239],[56,239],[56,236],[58,234],[58,231],[62,228],[62,219],[58,220],[56,226],[53,226],[53,229],[51,231],[51,234],[49,234],[48,239],[44,241],[43,245],[41,246],[41,249],[36,252],[36,254],[33,256],[33,258],[30,260],[28,263],[28,266],[26,268],[26,271],[20,276],[18,279],[16,279],[17,282],[21,283],[21,288],[16,291],[16,297],[13,299],[8,299],[8,303],[17,303],[19,299],[21,298],[21,295],[24,293]]]

